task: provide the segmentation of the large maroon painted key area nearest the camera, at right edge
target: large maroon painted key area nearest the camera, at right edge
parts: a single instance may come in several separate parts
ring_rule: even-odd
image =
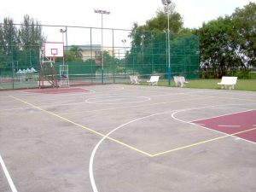
[[[195,120],[191,123],[256,143],[256,110],[232,113],[211,119]]]

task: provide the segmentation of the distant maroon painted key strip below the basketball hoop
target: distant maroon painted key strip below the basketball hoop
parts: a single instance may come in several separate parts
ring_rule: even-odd
[[[83,93],[89,90],[81,88],[65,88],[65,89],[45,89],[45,90],[28,90],[30,93],[41,93],[41,94],[64,94],[64,93]]]

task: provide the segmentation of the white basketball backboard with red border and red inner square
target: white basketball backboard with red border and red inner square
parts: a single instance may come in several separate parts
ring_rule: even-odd
[[[58,42],[44,42],[45,57],[63,57],[64,44]]]

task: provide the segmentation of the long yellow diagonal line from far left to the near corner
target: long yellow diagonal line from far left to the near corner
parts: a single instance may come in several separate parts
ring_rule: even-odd
[[[112,137],[108,137],[108,136],[106,136],[106,135],[104,135],[104,134],[102,134],[102,133],[100,133],[100,132],[98,132],[98,131],[92,130],[92,129],[90,129],[90,128],[84,126],[84,125],[80,125],[80,124],[78,124],[78,123],[75,123],[75,122],[73,122],[73,121],[70,120],[70,119],[61,117],[61,115],[58,115],[58,114],[56,114],[56,113],[49,112],[49,111],[45,110],[44,108],[39,108],[38,106],[33,105],[33,104],[30,103],[30,102],[26,102],[26,101],[24,101],[24,100],[21,100],[20,98],[17,98],[17,97],[15,97],[15,96],[10,96],[10,97],[12,97],[13,99],[15,99],[15,100],[17,100],[17,101],[26,103],[27,105],[32,106],[32,108],[37,108],[38,110],[43,111],[44,113],[49,113],[49,114],[55,116],[56,118],[65,120],[65,121],[67,121],[67,122],[69,122],[69,123],[71,123],[71,124],[73,124],[73,125],[77,125],[77,126],[79,126],[80,128],[83,128],[84,130],[93,132],[93,133],[95,133],[95,134],[98,135],[98,136],[106,137],[106,138],[108,138],[109,140],[111,140],[111,141],[113,141],[113,142],[115,142],[115,143],[119,143],[120,145],[122,145],[122,146],[124,146],[124,147],[126,147],[126,148],[130,148],[130,149],[132,149],[132,150],[134,150],[134,151],[137,151],[138,153],[145,154],[145,155],[147,155],[147,156],[149,156],[149,157],[152,157],[152,154],[148,154],[147,152],[145,152],[145,151],[143,151],[143,150],[141,150],[141,149],[132,147],[131,145],[128,145],[128,144],[126,144],[126,143],[122,143],[122,142],[120,142],[119,140],[113,139]]]

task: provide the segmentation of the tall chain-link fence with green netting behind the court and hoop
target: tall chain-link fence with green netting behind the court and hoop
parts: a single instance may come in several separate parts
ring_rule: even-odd
[[[13,27],[19,32],[21,26]],[[59,80],[59,66],[68,66],[70,85],[130,83],[130,75],[145,81],[151,75],[159,75],[160,81],[168,80],[166,32],[83,26],[41,29],[41,40],[28,40],[26,44],[19,40],[19,34],[9,44],[0,37],[0,90],[38,87],[44,41],[64,43],[64,58],[56,58],[54,67]],[[171,77],[199,78],[198,37],[171,34],[170,39]]]

